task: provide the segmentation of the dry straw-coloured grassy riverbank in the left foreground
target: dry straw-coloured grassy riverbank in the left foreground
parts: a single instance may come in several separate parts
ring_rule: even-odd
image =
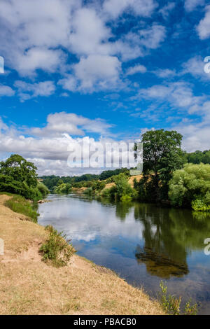
[[[164,313],[144,290],[78,255],[66,267],[45,264],[38,250],[48,231],[5,207],[9,198],[0,195],[0,314]]]

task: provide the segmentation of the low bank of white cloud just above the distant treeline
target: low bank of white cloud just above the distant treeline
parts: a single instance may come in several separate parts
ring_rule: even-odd
[[[28,130],[8,127],[0,118],[0,153],[18,153],[31,159],[38,167],[38,174],[83,174],[84,172],[102,172],[104,165],[109,169],[120,166],[120,157],[125,153],[127,144],[119,148],[113,145],[115,152],[108,150],[110,161],[106,160],[106,143],[114,142],[111,138],[100,135],[111,125],[103,120],[90,120],[74,113],[54,113],[48,116],[48,124],[43,128]],[[20,127],[21,128],[21,127]],[[83,135],[83,131],[97,132],[99,139],[82,136],[72,137],[70,133]],[[106,134],[107,136],[107,134]],[[125,150],[126,146],[126,150]],[[73,152],[73,155],[71,156]],[[111,152],[111,153],[110,153]],[[133,155],[133,148],[130,148]],[[110,154],[114,154],[112,159]],[[69,158],[70,156],[70,158]],[[76,157],[76,165],[72,160]],[[97,159],[100,159],[98,162]],[[130,160],[134,161],[134,155]],[[133,167],[132,162],[132,167]],[[124,166],[125,167],[125,166]]]

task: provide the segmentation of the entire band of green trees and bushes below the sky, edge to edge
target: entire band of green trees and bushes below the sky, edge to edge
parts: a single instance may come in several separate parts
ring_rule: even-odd
[[[72,187],[84,186],[89,195],[210,211],[210,151],[186,153],[181,149],[182,138],[178,132],[167,130],[143,134],[144,169],[140,181],[134,179],[134,188],[128,183],[127,168],[106,170],[99,175],[42,176],[43,183],[40,183],[32,162],[20,155],[11,155],[0,162],[0,191],[37,200],[46,195],[48,189],[70,193]],[[114,184],[106,188],[107,183]]]

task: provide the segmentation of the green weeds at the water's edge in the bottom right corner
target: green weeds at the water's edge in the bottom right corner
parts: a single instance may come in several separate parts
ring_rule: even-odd
[[[181,297],[176,297],[174,295],[168,295],[167,286],[161,281],[160,282],[160,302],[162,304],[163,309],[170,315],[196,315],[198,305],[192,304],[191,300],[186,302],[184,306],[184,313],[181,313]]]

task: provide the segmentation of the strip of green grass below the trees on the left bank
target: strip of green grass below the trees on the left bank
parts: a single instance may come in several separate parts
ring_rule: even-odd
[[[31,219],[32,222],[37,223],[37,212],[33,209],[32,204],[21,197],[20,195],[11,195],[10,193],[1,193],[12,196],[12,198],[5,202],[5,206],[15,211],[15,213],[22,214]]]

